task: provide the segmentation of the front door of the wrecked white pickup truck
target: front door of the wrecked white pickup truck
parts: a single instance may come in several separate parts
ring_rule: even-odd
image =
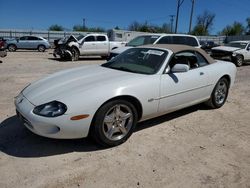
[[[96,39],[93,35],[88,35],[80,46],[81,55],[94,55],[96,53]]]

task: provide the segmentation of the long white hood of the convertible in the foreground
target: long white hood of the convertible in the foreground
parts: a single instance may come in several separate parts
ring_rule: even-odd
[[[83,66],[52,74],[38,80],[22,93],[35,106],[52,100],[63,100],[66,97],[83,93],[108,84],[117,87],[140,74],[113,70],[100,65]]]

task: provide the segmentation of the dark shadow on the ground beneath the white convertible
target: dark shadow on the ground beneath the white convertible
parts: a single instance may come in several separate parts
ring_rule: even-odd
[[[208,110],[203,105],[196,105],[174,113],[138,123],[135,132],[170,121],[197,110]],[[70,152],[94,152],[105,148],[98,146],[89,138],[85,139],[50,139],[33,134],[26,129],[17,116],[12,116],[0,124],[0,152],[10,156],[29,158],[60,155]]]

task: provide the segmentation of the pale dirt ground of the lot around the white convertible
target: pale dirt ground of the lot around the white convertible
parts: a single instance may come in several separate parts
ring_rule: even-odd
[[[13,98],[28,83],[96,59],[60,62],[46,53],[8,53],[0,64],[0,187],[250,188],[250,66],[238,68],[227,103],[197,105],[140,123],[123,145],[53,140],[29,132]]]

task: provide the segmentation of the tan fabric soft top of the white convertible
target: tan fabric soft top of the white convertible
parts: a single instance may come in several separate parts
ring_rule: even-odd
[[[210,55],[208,55],[203,49],[194,48],[192,46],[178,45],[178,44],[153,44],[153,45],[144,45],[141,47],[168,49],[175,54],[182,51],[197,51],[207,59],[208,63],[210,64],[215,63],[215,60]]]

